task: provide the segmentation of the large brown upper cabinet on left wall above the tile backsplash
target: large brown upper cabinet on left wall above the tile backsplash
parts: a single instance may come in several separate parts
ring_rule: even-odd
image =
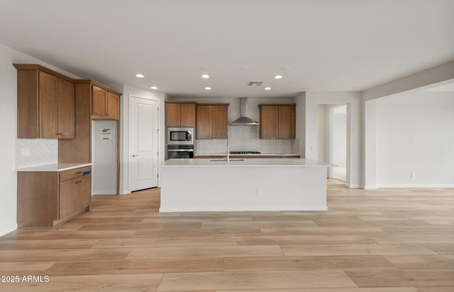
[[[37,64],[17,69],[17,137],[74,138],[74,80]]]

